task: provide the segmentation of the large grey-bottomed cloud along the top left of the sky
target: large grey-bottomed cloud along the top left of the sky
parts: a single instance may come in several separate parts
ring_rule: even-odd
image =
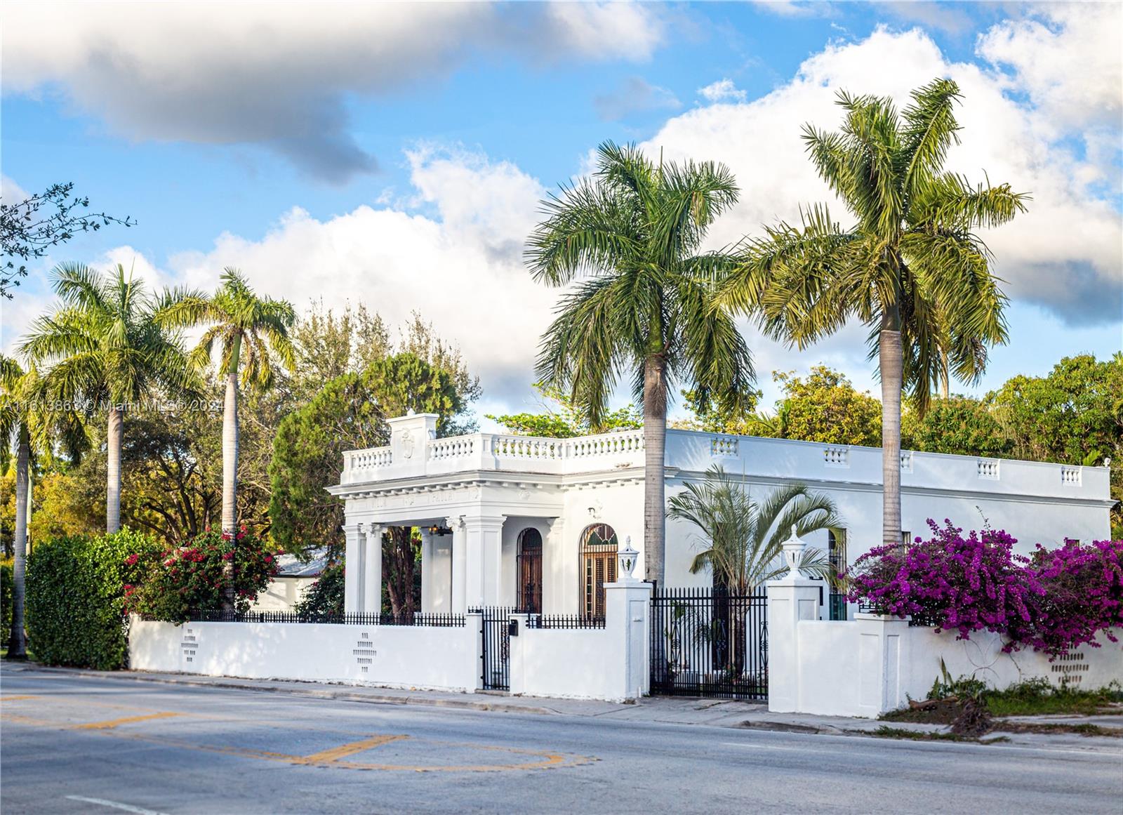
[[[620,3],[10,3],[4,93],[61,91],[128,138],[255,144],[317,177],[375,168],[345,95],[441,77],[474,52],[646,59],[658,12]]]

